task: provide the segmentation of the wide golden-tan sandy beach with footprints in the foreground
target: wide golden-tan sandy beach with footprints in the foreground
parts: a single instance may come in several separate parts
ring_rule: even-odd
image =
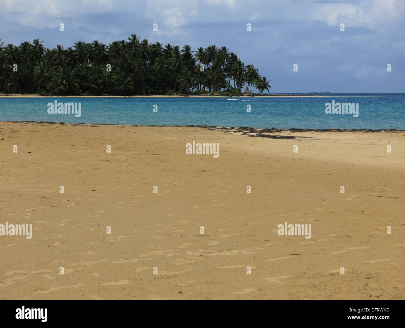
[[[405,299],[405,133],[269,135],[0,122],[0,298]]]

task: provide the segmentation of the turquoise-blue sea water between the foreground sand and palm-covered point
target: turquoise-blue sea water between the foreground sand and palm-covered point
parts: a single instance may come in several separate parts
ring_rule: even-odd
[[[0,121],[215,125],[279,129],[405,129],[405,95],[239,98],[0,98]],[[48,114],[49,102],[80,102],[81,117]],[[327,102],[358,103],[359,115],[325,114]],[[157,105],[158,112],[153,112]],[[252,112],[247,112],[250,105]]]

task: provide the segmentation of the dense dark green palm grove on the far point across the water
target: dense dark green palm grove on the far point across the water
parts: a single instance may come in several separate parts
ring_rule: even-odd
[[[35,39],[3,47],[0,40],[0,92],[240,95],[242,88],[260,93],[270,88],[265,76],[226,47],[210,45],[193,52],[190,45],[181,50],[178,45],[162,47],[159,42],[139,41],[135,34],[108,46],[79,41],[68,49],[58,45],[50,50],[42,43]]]

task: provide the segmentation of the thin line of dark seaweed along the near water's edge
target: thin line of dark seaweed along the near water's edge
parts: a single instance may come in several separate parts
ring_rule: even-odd
[[[243,132],[241,134],[248,135],[257,133],[261,137],[267,137],[265,133],[273,132],[405,132],[405,130],[397,129],[339,129],[339,128],[326,128],[326,129],[301,129],[301,128],[291,128],[291,129],[277,129],[276,127],[271,128],[253,128],[247,126],[241,127],[222,127],[216,125],[124,125],[124,124],[110,124],[110,123],[65,123],[65,122],[52,122],[52,121],[0,121],[0,123],[43,123],[43,124],[61,124],[61,125],[92,125],[92,126],[103,126],[103,125],[115,125],[121,127],[197,127],[201,129],[210,129],[210,130],[227,130],[226,132]],[[263,135],[262,135],[263,134]]]

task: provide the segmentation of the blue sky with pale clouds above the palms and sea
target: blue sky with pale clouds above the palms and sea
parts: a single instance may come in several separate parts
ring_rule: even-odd
[[[404,17],[405,0],[0,0],[0,39],[225,45],[271,93],[404,93]]]

